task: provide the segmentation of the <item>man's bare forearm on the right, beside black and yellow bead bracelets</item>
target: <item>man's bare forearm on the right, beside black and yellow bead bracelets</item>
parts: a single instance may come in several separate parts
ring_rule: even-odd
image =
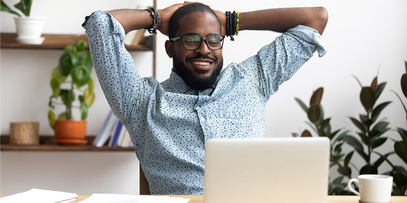
[[[324,7],[279,8],[244,12],[239,18],[239,30],[285,32],[301,24],[318,30],[322,35],[328,22],[328,12]]]

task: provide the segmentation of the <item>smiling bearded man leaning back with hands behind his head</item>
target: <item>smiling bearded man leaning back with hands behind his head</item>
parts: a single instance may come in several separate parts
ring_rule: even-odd
[[[328,20],[324,8],[240,13],[239,31],[284,33],[221,71],[219,43],[230,24],[225,13],[215,12],[190,2],[157,10],[158,30],[169,35],[165,50],[173,59],[172,73],[162,83],[141,78],[122,43],[128,31],[157,24],[156,15],[97,11],[83,23],[99,82],[130,132],[152,194],[202,194],[206,141],[264,137],[270,95],[315,50],[325,54],[319,35]]]

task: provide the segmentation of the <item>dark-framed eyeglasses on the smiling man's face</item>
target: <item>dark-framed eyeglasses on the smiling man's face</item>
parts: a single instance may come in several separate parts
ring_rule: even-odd
[[[218,50],[223,46],[224,35],[211,34],[205,38],[195,34],[187,34],[178,38],[171,38],[170,40],[175,42],[182,39],[182,44],[186,50],[197,50],[200,47],[202,40],[205,40],[207,46],[211,50]]]

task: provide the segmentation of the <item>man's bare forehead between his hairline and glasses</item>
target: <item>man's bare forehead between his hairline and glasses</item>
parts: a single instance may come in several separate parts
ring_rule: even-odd
[[[183,16],[179,20],[177,36],[183,36],[187,33],[196,33],[206,35],[219,33],[220,25],[216,16],[208,12],[192,12]]]

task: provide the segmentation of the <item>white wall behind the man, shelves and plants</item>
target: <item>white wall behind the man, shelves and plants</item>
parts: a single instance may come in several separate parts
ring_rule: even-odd
[[[12,5],[14,1],[6,1]],[[45,1],[36,0],[32,15],[47,16],[44,33],[83,33],[80,24],[83,17],[95,10],[134,8],[138,1]],[[158,1],[163,8],[178,1]],[[359,101],[360,87],[352,75],[364,85],[379,70],[379,82],[387,82],[379,102],[392,100],[382,113],[390,127],[407,128],[405,113],[395,90],[402,95],[400,78],[407,60],[407,2],[392,1],[300,1],[277,0],[250,2],[219,2],[208,0],[206,4],[221,11],[240,12],[265,8],[324,6],[329,12],[328,25],[323,34],[328,53],[323,58],[311,58],[280,90],[271,97],[267,105],[266,131],[268,137],[290,137],[291,132],[300,132],[308,126],[305,113],[295,102],[299,97],[308,102],[312,91],[324,87],[322,105],[326,117],[332,117],[333,129],[344,128],[353,132],[349,116],[358,117],[363,113]],[[148,3],[143,3],[146,5]],[[83,5],[79,7],[78,5]],[[14,32],[11,15],[1,14],[1,31]],[[278,33],[267,31],[242,31],[235,42],[226,40],[223,48],[224,64],[240,62],[277,37]],[[157,79],[168,78],[172,61],[164,51],[163,35],[157,41]],[[235,51],[238,50],[238,51]],[[1,50],[1,104],[0,132],[8,134],[9,122],[39,121],[41,134],[52,134],[47,122],[47,99],[51,93],[49,74],[57,64],[62,50]],[[136,65],[143,76],[151,75],[152,56],[149,52],[134,52]],[[95,75],[94,75],[95,77]],[[96,77],[95,77],[96,78]],[[96,134],[107,113],[107,102],[100,86],[96,87],[96,100],[89,112],[88,134]],[[406,99],[404,99],[406,101]],[[388,131],[387,137],[399,140],[398,133]],[[392,149],[392,142],[380,147],[382,152]],[[407,167],[395,155],[390,158],[394,164]],[[115,164],[110,164],[114,161]],[[360,168],[361,159],[355,155],[353,161]],[[36,163],[38,162],[38,163]],[[69,164],[66,164],[69,163]],[[52,170],[56,166],[57,170]],[[65,166],[65,167],[60,167]],[[34,175],[29,167],[34,167]],[[61,189],[78,194],[94,192],[138,193],[138,162],[132,152],[1,152],[2,194],[11,194],[33,187]],[[389,166],[383,164],[379,172]],[[78,175],[73,176],[73,172]],[[49,176],[47,176],[49,175]],[[54,181],[55,177],[59,178]],[[19,177],[16,181],[13,177]],[[48,179],[47,179],[48,177]],[[103,180],[101,180],[101,178]],[[41,180],[41,181],[39,181]],[[75,184],[71,184],[72,180]],[[80,186],[79,182],[85,180]],[[65,184],[66,183],[66,184]],[[112,183],[112,184],[108,184]],[[74,185],[74,186],[72,186]],[[114,186],[113,186],[114,185]],[[90,189],[92,188],[92,189]]]

